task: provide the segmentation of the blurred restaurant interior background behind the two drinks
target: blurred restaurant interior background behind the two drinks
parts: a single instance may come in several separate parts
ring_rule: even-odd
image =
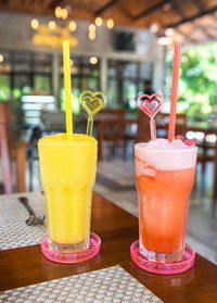
[[[63,40],[74,131],[86,132],[84,90],[107,100],[94,117],[93,190],[136,217],[133,147],[151,139],[137,98],[163,96],[156,136],[167,138],[174,46],[181,46],[176,135],[199,148],[187,242],[217,264],[216,0],[1,0],[1,194],[42,191],[38,140],[66,129]]]

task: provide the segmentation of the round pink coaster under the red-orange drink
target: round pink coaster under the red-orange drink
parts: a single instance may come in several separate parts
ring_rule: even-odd
[[[148,260],[140,253],[139,240],[135,241],[130,247],[130,254],[132,261],[142,269],[156,274],[179,274],[188,270],[195,258],[194,250],[186,244],[182,260],[174,263],[159,263]]]

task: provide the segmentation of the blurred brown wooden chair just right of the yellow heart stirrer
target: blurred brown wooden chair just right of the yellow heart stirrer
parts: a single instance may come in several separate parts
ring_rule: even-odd
[[[117,144],[123,146],[123,155],[126,159],[125,124],[126,111],[107,109],[102,110],[98,116],[99,125],[99,159],[103,159],[103,142],[111,143],[112,155],[115,154]]]

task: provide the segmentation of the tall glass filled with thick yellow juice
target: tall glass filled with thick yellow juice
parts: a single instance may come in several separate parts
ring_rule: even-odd
[[[98,141],[66,134],[39,140],[40,176],[46,198],[49,248],[76,253],[89,248]]]

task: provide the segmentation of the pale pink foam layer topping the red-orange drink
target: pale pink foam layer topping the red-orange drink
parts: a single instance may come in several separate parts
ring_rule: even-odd
[[[145,165],[159,171],[186,169],[195,166],[195,146],[186,146],[180,139],[169,142],[167,139],[156,139],[148,143],[135,146],[136,174],[142,174]],[[140,167],[138,167],[140,166]],[[144,172],[145,174],[145,172]]]

